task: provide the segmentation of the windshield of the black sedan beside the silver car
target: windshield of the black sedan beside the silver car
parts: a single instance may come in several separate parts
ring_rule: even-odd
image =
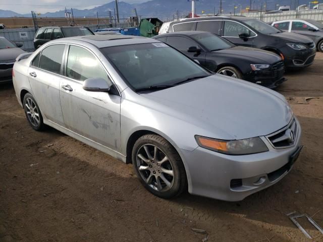
[[[228,49],[235,46],[228,40],[212,33],[194,34],[191,37],[207,48],[208,51]]]

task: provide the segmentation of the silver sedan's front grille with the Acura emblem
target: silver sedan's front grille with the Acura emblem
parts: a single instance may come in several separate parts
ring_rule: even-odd
[[[275,149],[293,146],[297,138],[297,124],[295,118],[285,128],[266,136]]]

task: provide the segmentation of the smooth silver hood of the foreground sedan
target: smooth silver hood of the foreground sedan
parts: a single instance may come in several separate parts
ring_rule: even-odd
[[[196,135],[225,140],[271,134],[293,115],[281,94],[219,74],[141,95],[150,99],[144,105],[194,125]]]

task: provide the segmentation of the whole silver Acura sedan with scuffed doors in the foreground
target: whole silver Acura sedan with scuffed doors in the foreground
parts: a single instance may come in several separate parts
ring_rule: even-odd
[[[30,55],[30,56],[28,56]],[[132,163],[152,194],[238,201],[282,179],[301,127],[279,93],[214,75],[155,39],[63,38],[17,57],[30,126]]]

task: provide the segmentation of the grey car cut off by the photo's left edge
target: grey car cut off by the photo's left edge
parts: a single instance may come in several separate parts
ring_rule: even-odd
[[[26,53],[22,50],[21,43],[16,45],[0,36],[0,83],[12,81],[12,68],[18,55]]]

